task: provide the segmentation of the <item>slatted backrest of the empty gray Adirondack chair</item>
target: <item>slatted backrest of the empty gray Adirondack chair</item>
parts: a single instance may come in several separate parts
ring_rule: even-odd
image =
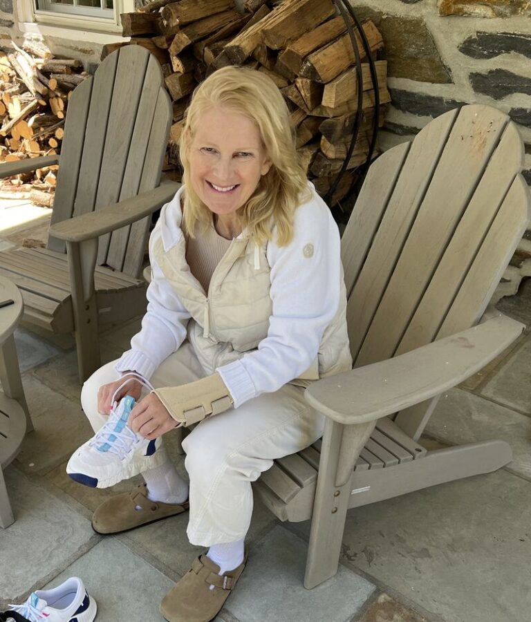
[[[125,46],[106,57],[68,104],[52,222],[104,209],[155,188],[171,102],[155,57]],[[101,236],[97,263],[138,276],[149,218]],[[48,247],[64,250],[50,238]]]

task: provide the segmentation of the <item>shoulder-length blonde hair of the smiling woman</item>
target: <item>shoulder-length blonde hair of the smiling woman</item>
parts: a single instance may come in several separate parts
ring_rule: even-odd
[[[266,158],[271,162],[268,173],[238,210],[242,229],[247,229],[254,243],[262,245],[272,239],[276,225],[277,243],[288,245],[293,236],[295,210],[311,196],[295,148],[295,129],[286,102],[272,79],[259,71],[233,66],[218,69],[196,88],[185,115],[179,144],[186,187],[185,231],[194,237],[197,229],[204,231],[212,223],[212,212],[192,187],[187,158],[198,117],[212,106],[225,106],[249,117],[257,125]]]

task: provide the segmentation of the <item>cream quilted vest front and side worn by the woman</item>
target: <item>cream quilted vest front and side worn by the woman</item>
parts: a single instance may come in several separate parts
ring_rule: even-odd
[[[208,296],[189,270],[185,236],[165,250],[162,238],[151,252],[185,308],[192,315],[188,339],[205,371],[241,358],[254,350],[268,335],[272,312],[270,266],[266,245],[258,247],[241,234],[232,240],[210,281]],[[346,292],[342,283],[342,303],[326,328],[314,364],[292,384],[309,381],[352,367],[346,330]]]

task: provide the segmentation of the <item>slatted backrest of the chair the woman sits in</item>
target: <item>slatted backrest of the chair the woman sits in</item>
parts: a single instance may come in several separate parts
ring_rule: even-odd
[[[509,117],[471,105],[371,166],[342,241],[355,366],[478,321],[528,224],[522,165]]]

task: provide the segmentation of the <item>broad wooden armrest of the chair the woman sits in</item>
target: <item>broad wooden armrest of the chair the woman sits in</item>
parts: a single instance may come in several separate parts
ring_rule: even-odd
[[[440,395],[483,368],[525,329],[496,317],[404,355],[311,384],[306,401],[342,424],[369,422]]]

